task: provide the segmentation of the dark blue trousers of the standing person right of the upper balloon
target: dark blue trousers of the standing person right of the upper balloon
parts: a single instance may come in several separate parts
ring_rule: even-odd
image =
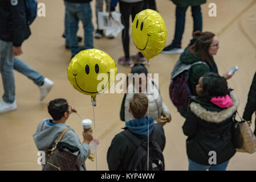
[[[186,7],[178,7],[176,6],[176,23],[175,23],[175,34],[174,39],[172,41],[173,46],[180,46],[181,45],[181,39],[184,32],[185,27],[185,16],[186,16],[186,10],[188,9],[188,6]],[[200,30],[202,31],[202,13],[201,13],[201,7],[200,6],[192,6],[192,17],[194,22],[193,32]]]

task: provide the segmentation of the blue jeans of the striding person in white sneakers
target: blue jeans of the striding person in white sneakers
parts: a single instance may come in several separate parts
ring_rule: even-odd
[[[38,86],[43,84],[44,77],[22,60],[14,57],[13,43],[0,40],[0,72],[3,82],[3,101],[13,103],[15,100],[15,82],[13,69],[29,77]]]

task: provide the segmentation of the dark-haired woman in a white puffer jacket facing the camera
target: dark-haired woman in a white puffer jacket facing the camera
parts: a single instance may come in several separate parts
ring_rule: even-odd
[[[135,80],[133,82],[133,80]],[[144,93],[149,100],[149,115],[154,119],[155,123],[161,123],[164,126],[171,121],[171,115],[168,107],[162,100],[159,92],[158,82],[148,78],[148,70],[143,64],[135,64],[131,74],[128,76],[127,95],[124,102],[125,121],[131,120],[129,115],[129,101],[134,93]]]

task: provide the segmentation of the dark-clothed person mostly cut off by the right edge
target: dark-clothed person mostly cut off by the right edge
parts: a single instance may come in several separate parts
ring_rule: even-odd
[[[251,83],[250,91],[248,93],[248,99],[245,106],[245,111],[243,111],[243,119],[246,121],[251,121],[251,116],[256,111],[256,72],[253,77],[253,82]],[[256,135],[256,118],[255,118],[255,130]]]

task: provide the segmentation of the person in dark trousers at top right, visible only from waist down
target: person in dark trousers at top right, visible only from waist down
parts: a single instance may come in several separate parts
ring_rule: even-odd
[[[201,5],[206,2],[206,0],[172,0],[176,5],[176,22],[175,22],[175,32],[174,39],[169,46],[166,46],[162,53],[182,53],[181,39],[185,28],[185,17],[186,10],[191,6],[192,17],[194,22],[193,32],[202,31],[202,13]]]

